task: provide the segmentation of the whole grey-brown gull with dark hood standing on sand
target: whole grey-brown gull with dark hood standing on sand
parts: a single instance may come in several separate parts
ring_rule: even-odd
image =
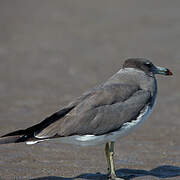
[[[114,144],[151,114],[157,97],[156,74],[173,75],[146,58],[128,58],[107,81],[40,123],[1,136],[0,144],[35,144],[54,138],[79,146],[104,144],[108,178],[122,179],[115,172]]]

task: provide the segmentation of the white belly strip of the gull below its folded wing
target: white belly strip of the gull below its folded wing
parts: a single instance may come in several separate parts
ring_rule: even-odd
[[[132,120],[131,122],[124,123],[123,126],[114,132],[110,132],[106,135],[74,135],[60,138],[60,142],[67,144],[74,144],[80,146],[92,146],[97,144],[104,144],[106,142],[115,141],[117,138],[127,135],[132,132],[138,126],[140,126],[151,114],[152,108],[147,106],[143,111],[141,111],[140,115],[136,120]]]

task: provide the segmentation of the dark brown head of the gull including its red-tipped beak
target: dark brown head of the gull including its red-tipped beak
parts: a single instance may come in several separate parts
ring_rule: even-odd
[[[144,71],[146,74],[162,74],[162,75],[173,75],[173,73],[163,67],[155,66],[150,60],[145,58],[130,58],[125,60],[123,68],[135,68]]]

